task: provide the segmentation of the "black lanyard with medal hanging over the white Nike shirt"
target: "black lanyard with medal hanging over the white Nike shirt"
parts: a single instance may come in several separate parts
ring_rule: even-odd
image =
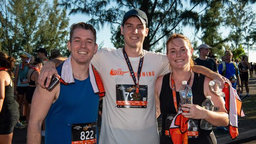
[[[137,72],[138,83],[136,83],[136,78],[134,76],[134,70],[132,69],[132,65],[130,63],[130,60],[129,60],[124,48],[123,48],[122,52],[124,54],[124,59],[126,61],[126,64],[127,64],[128,68],[130,70],[130,73],[132,75],[132,79],[134,80],[134,84],[136,86],[136,93],[139,93],[139,77],[141,75],[141,68],[142,68],[142,65],[143,65],[144,56],[141,54],[141,58],[139,60],[139,67],[138,67],[138,72]]]

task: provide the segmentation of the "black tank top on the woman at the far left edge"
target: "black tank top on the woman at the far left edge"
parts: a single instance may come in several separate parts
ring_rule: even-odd
[[[11,74],[9,74],[9,76],[11,78]],[[16,102],[16,100],[14,100],[14,87],[11,86],[11,83],[13,83],[12,79],[10,84],[4,87],[4,102],[3,102],[1,113],[8,110],[10,111],[19,107],[19,104]]]

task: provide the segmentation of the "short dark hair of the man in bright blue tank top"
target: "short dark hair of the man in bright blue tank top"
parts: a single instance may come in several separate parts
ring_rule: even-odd
[[[72,40],[72,36],[73,36],[74,30],[76,28],[83,28],[85,30],[91,30],[93,32],[94,39],[95,39],[95,44],[96,44],[96,30],[95,30],[95,28],[93,28],[93,26],[91,24],[87,24],[87,23],[84,23],[84,22],[79,22],[77,24],[72,24],[70,26],[70,32],[69,32],[69,41],[70,42]]]

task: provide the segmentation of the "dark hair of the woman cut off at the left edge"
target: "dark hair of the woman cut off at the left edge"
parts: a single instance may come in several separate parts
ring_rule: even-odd
[[[15,66],[15,58],[13,57],[9,57],[7,54],[5,54],[4,52],[0,52],[0,66],[1,67],[5,67],[8,69],[8,72],[13,75],[13,73],[11,72],[11,70],[13,69],[13,67]]]

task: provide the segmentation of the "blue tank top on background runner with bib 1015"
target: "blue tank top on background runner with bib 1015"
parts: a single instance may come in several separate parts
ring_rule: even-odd
[[[27,87],[28,86],[28,70],[29,66],[24,66],[23,69],[21,69],[22,63],[19,65],[19,78],[18,78],[18,87]]]

